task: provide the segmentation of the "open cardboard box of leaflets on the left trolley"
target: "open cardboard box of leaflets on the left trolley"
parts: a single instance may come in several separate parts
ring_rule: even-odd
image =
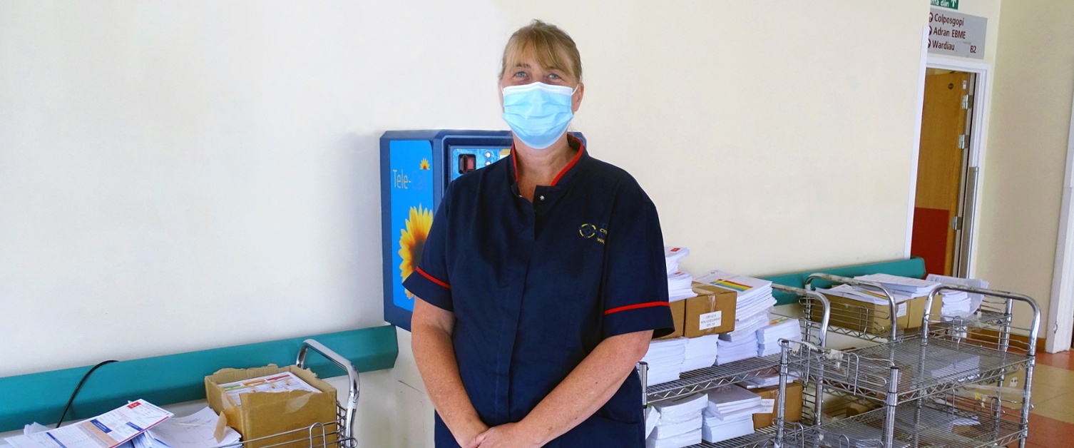
[[[242,403],[235,403],[224,393],[219,385],[257,378],[260,376],[291,372],[302,380],[321,392],[289,391],[289,392],[253,392],[240,395]],[[336,423],[336,390],[328,382],[317,378],[309,370],[295,365],[277,367],[270,364],[255,368],[223,368],[205,377],[205,398],[209,407],[227,424],[243,435],[243,440],[271,436],[291,430],[311,427],[315,423],[324,424],[324,433],[338,433]],[[241,405],[241,406],[240,406]],[[320,433],[320,429],[316,430]],[[336,435],[314,437],[314,446],[333,444]],[[326,438],[326,440],[323,440]],[[294,440],[294,442],[292,442]],[[290,442],[290,443],[288,443]],[[284,444],[286,443],[286,444]],[[268,445],[280,445],[279,448],[308,448],[309,433],[296,431],[291,434],[268,437],[264,440],[247,443],[246,448],[259,448]],[[275,448],[275,447],[274,447]]]

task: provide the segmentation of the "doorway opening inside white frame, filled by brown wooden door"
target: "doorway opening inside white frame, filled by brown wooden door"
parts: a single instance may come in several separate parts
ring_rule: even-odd
[[[970,275],[977,81],[976,73],[952,69],[925,74],[910,255],[924,258],[929,274]]]

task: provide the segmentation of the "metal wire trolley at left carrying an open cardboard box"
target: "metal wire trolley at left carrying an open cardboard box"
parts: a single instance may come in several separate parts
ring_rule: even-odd
[[[303,341],[302,348],[299,350],[299,357],[294,362],[299,368],[305,368],[308,350],[322,355],[329,361],[332,361],[332,363],[347,372],[349,386],[347,402],[336,403],[336,419],[334,421],[317,422],[307,428],[242,440],[228,448],[354,448],[355,443],[352,431],[359,395],[358,370],[346,358],[314,339]]]

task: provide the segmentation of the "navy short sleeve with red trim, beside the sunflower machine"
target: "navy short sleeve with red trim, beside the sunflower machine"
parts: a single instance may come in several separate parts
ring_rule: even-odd
[[[433,217],[433,226],[429,230],[429,236],[422,247],[421,260],[413,273],[406,280],[403,287],[421,300],[449,312],[454,310],[451,300],[451,279],[448,276],[448,254],[447,241],[448,231],[451,228],[448,217],[448,204],[450,203],[450,191],[444,194],[440,207],[437,208]]]

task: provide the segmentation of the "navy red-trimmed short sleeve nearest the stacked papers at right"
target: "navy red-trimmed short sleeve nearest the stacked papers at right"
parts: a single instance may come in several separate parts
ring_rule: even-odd
[[[653,330],[653,337],[661,337],[674,331],[664,235],[656,206],[641,187],[628,184],[616,192],[608,223],[601,333],[608,338]]]

